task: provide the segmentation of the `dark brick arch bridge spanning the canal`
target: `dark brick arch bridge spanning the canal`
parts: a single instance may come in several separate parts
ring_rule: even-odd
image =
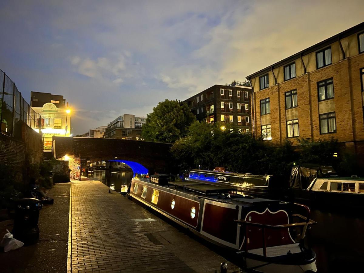
[[[170,147],[169,143],[130,139],[53,137],[52,153],[56,159],[68,160],[71,179],[80,180],[87,161],[134,161],[149,173],[170,173],[173,170]]]

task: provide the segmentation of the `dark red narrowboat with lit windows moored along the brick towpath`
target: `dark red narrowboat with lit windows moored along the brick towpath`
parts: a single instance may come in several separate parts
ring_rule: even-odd
[[[128,197],[191,232],[227,248],[237,265],[256,272],[316,272],[316,255],[305,248],[310,210],[305,205],[236,194],[231,186],[196,181],[165,185],[133,178]],[[303,214],[293,213],[294,207]],[[296,211],[295,211],[296,212]]]

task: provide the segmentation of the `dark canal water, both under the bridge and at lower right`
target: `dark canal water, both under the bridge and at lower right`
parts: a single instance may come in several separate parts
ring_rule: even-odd
[[[127,191],[132,171],[96,170],[91,180],[102,181],[115,191]],[[340,211],[311,207],[311,218],[317,222],[308,231],[308,245],[316,252],[318,272],[363,272],[364,213],[362,210]],[[360,269],[358,271],[358,269]]]

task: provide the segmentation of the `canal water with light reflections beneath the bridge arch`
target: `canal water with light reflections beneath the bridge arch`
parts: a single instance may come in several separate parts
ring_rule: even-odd
[[[93,173],[87,174],[88,179],[101,181],[110,187],[111,190],[125,193],[128,190],[132,177],[132,171],[119,170],[95,170]]]

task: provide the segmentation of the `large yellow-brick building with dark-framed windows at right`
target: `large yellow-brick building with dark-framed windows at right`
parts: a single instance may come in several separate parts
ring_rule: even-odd
[[[296,145],[334,137],[364,153],[364,23],[246,78],[257,137]]]

